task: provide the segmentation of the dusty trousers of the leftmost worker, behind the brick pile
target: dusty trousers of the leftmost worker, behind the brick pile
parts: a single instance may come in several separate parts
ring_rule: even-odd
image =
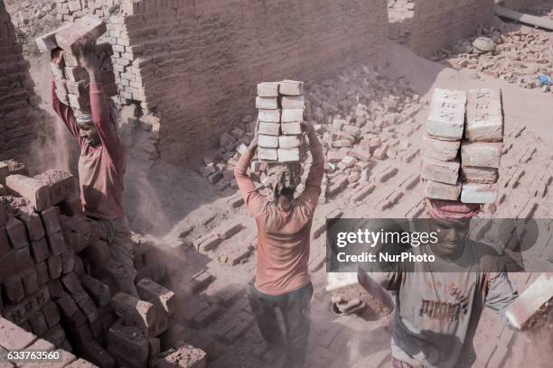
[[[95,220],[101,226],[101,239],[109,244],[111,258],[121,263],[121,277],[116,281],[119,289],[117,291],[123,291],[137,297],[135,256],[127,217],[121,216],[113,220]],[[113,290],[114,294],[115,291]]]

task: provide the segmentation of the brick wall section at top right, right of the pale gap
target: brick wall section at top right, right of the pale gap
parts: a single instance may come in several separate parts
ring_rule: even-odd
[[[492,20],[492,0],[415,0],[410,47],[427,56]]]

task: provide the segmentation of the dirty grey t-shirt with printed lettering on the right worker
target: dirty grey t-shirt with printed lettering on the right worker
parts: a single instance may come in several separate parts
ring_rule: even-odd
[[[472,258],[473,247],[479,245],[469,241],[462,258]],[[422,248],[418,252],[431,253]],[[473,337],[484,306],[501,313],[518,296],[506,272],[480,271],[483,263],[480,259],[466,271],[455,272],[432,272],[432,264],[414,263],[409,271],[369,273],[395,294],[395,358],[425,368],[472,365]]]

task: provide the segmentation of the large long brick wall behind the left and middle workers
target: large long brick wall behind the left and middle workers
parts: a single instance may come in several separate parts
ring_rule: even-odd
[[[176,163],[254,112],[259,81],[323,78],[384,55],[385,1],[124,0],[122,9],[108,40],[121,96],[160,116],[162,159]]]

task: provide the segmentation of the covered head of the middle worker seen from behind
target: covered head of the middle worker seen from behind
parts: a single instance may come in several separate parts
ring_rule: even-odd
[[[300,163],[270,164],[267,167],[267,177],[275,203],[287,207],[294,199],[295,188],[302,179],[302,165]]]

